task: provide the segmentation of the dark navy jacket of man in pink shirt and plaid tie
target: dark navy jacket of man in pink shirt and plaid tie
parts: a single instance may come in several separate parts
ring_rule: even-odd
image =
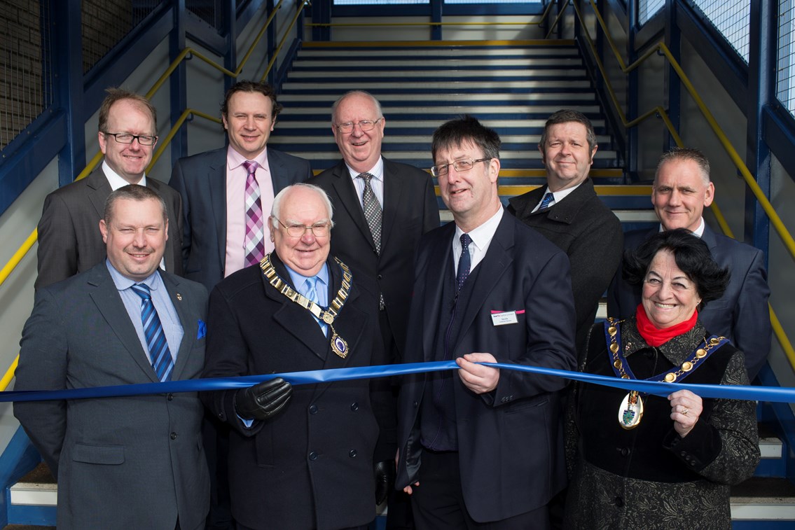
[[[312,176],[312,167],[302,158],[270,148],[267,154],[274,194]],[[227,148],[180,158],[169,185],[182,195],[184,276],[211,291],[226,268]]]

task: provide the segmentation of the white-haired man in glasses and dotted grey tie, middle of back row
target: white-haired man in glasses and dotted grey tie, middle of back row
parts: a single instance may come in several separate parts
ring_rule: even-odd
[[[328,193],[336,209],[332,253],[378,284],[384,347],[390,362],[400,362],[414,252],[421,235],[439,226],[439,207],[427,172],[382,157],[385,126],[381,104],[367,92],[351,91],[337,99],[332,133],[343,160],[312,184]],[[392,464],[387,465],[394,476]],[[413,528],[408,499],[389,490],[387,528]]]

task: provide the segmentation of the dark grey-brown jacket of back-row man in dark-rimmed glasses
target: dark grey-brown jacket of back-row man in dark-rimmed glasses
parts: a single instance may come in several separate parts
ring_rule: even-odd
[[[169,241],[165,244],[165,269],[182,274],[180,237],[182,206],[180,195],[162,182],[147,178],[146,187],[165,200],[169,215]],[[99,219],[105,213],[105,199],[111,184],[102,170],[52,191],[45,199],[39,221],[38,271],[36,288],[46,287],[91,269],[106,257],[99,232]]]

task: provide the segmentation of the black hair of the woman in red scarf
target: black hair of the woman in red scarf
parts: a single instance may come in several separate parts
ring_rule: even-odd
[[[657,232],[637,249],[627,250],[622,270],[624,279],[630,284],[641,285],[651,261],[661,250],[673,253],[677,267],[696,284],[696,292],[701,298],[699,308],[723,296],[731,276],[729,269],[721,269],[707,243],[686,228]]]

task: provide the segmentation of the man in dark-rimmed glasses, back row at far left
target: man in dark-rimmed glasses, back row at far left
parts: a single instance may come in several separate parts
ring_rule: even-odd
[[[180,195],[145,176],[157,143],[155,108],[134,92],[110,88],[107,94],[99,107],[103,164],[91,175],[53,191],[45,199],[38,225],[37,289],[82,273],[105,259],[99,219],[103,217],[107,196],[127,184],[151,188],[165,200],[169,240],[161,269],[182,274]]]

